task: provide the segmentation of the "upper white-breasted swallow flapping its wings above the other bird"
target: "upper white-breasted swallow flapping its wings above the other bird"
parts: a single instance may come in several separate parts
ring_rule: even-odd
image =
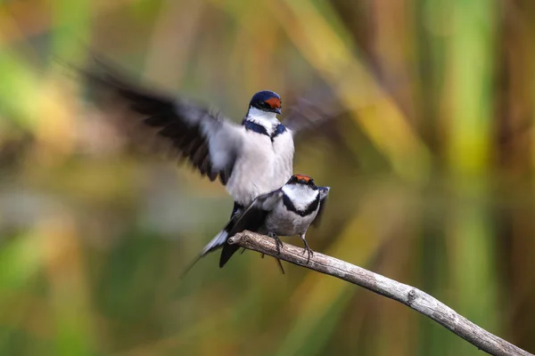
[[[119,104],[126,109],[123,120],[128,121],[122,129],[139,122],[142,128],[155,128],[156,136],[202,175],[212,182],[219,178],[234,199],[231,216],[259,195],[284,185],[292,176],[294,135],[325,117],[321,109],[307,105],[309,120],[290,118],[290,125],[284,125],[277,118],[282,113],[280,96],[262,90],[252,95],[239,125],[193,101],[134,85],[109,61],[95,58],[93,67],[79,71],[97,92],[97,104]],[[142,136],[147,136],[145,132]]]

